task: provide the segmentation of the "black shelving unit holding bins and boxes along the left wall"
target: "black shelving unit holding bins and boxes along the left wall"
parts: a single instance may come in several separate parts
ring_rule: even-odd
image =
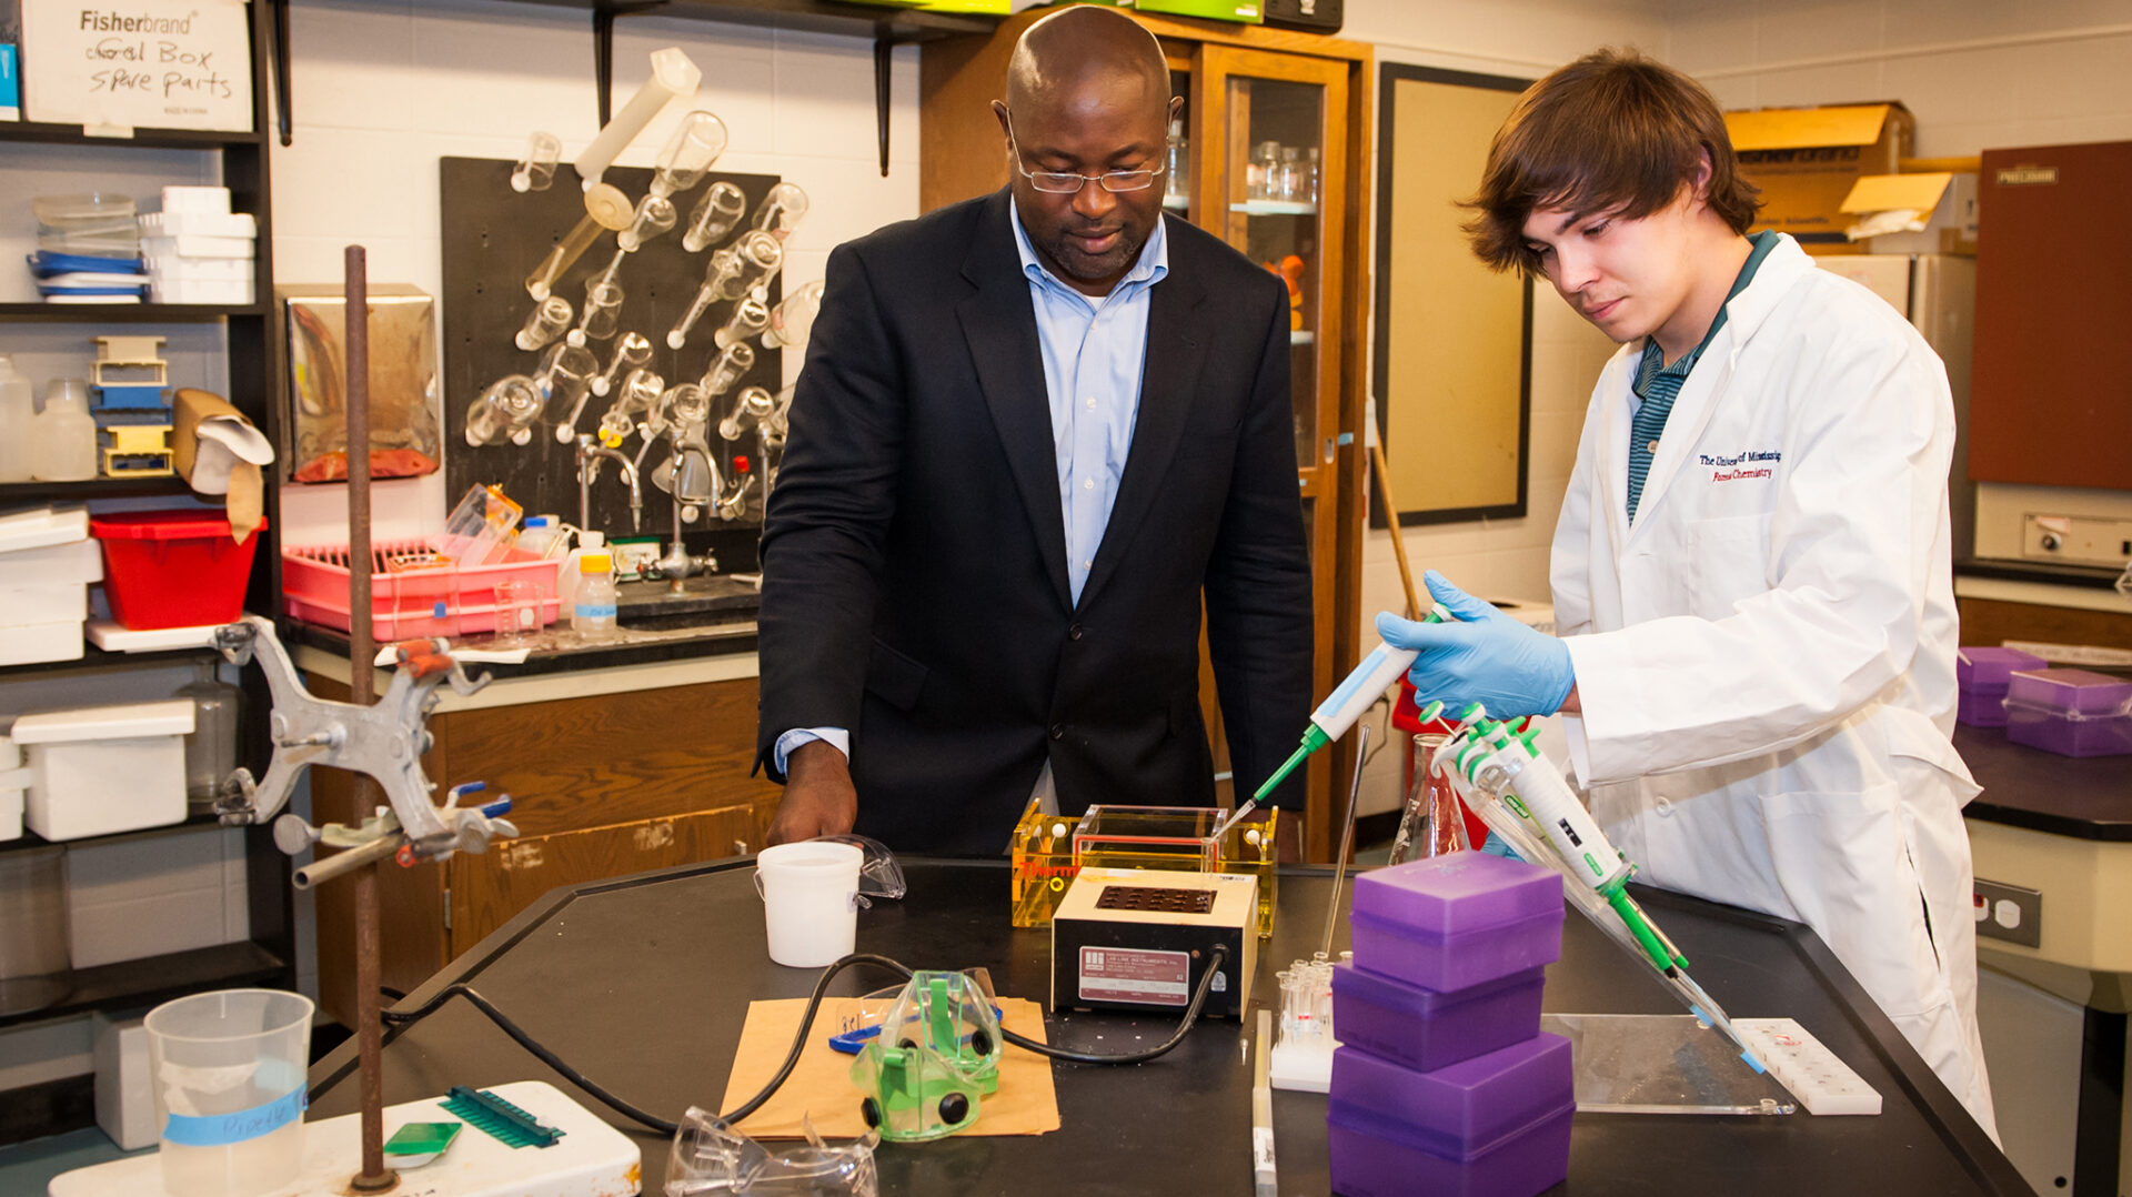
[[[273,322],[273,228],[266,188],[266,139],[269,139],[269,87],[266,55],[273,45],[273,6],[252,4],[252,130],[183,130],[183,128],[136,128],[130,137],[90,137],[79,126],[43,122],[0,122],[0,177],[9,162],[30,162],[38,145],[87,147],[94,154],[130,154],[136,149],[190,149],[220,162],[222,186],[230,188],[235,211],[258,218],[258,258],[252,303],[203,305],[203,303],[141,303],[141,305],[47,305],[47,303],[0,303],[0,352],[6,352],[6,326],[62,324],[81,333],[83,354],[90,337],[100,331],[154,333],[164,326],[220,324],[224,331],[224,352],[228,361],[228,399],[245,416],[281,446],[279,403],[275,388],[279,380],[279,346]],[[173,179],[194,181],[194,179]],[[30,196],[11,192],[13,203],[28,205]],[[21,435],[21,429],[0,429],[0,435]],[[245,608],[275,615],[279,612],[279,559],[275,550],[275,469],[266,478],[269,525],[256,536],[266,538],[256,555],[256,565],[245,589]],[[4,482],[0,484],[0,508],[15,508],[43,501],[83,499],[185,499],[192,491],[181,478],[96,478],[87,482]],[[162,653],[107,653],[92,644],[83,647],[77,661],[49,661],[36,666],[0,668],[0,685],[28,683],[60,672],[126,670],[147,666],[194,664],[209,672],[220,661],[211,649],[177,649]],[[269,696],[258,670],[243,672],[247,723],[241,736],[239,762],[254,768],[264,766]],[[143,696],[162,698],[162,696]],[[213,826],[211,815],[188,817],[166,828],[145,828],[113,836],[66,841],[68,847],[92,843],[113,843],[130,839],[154,839],[179,832],[194,832]],[[34,832],[0,843],[0,853],[28,847],[43,847]],[[237,943],[171,952],[90,969],[75,969],[72,992],[55,1005],[0,1016],[0,1035],[9,1028],[53,1018],[83,1016],[90,1011],[130,1009],[154,1005],[188,992],[232,986],[284,986],[296,984],[294,945],[294,892],[288,879],[288,858],[275,849],[269,828],[245,830],[245,892],[249,907],[252,937]],[[11,1107],[11,1116],[0,1120],[0,1139],[15,1142],[47,1133],[94,1124],[90,1116],[90,1082],[94,1078],[66,1078],[30,1090],[0,1095],[0,1105]]]

